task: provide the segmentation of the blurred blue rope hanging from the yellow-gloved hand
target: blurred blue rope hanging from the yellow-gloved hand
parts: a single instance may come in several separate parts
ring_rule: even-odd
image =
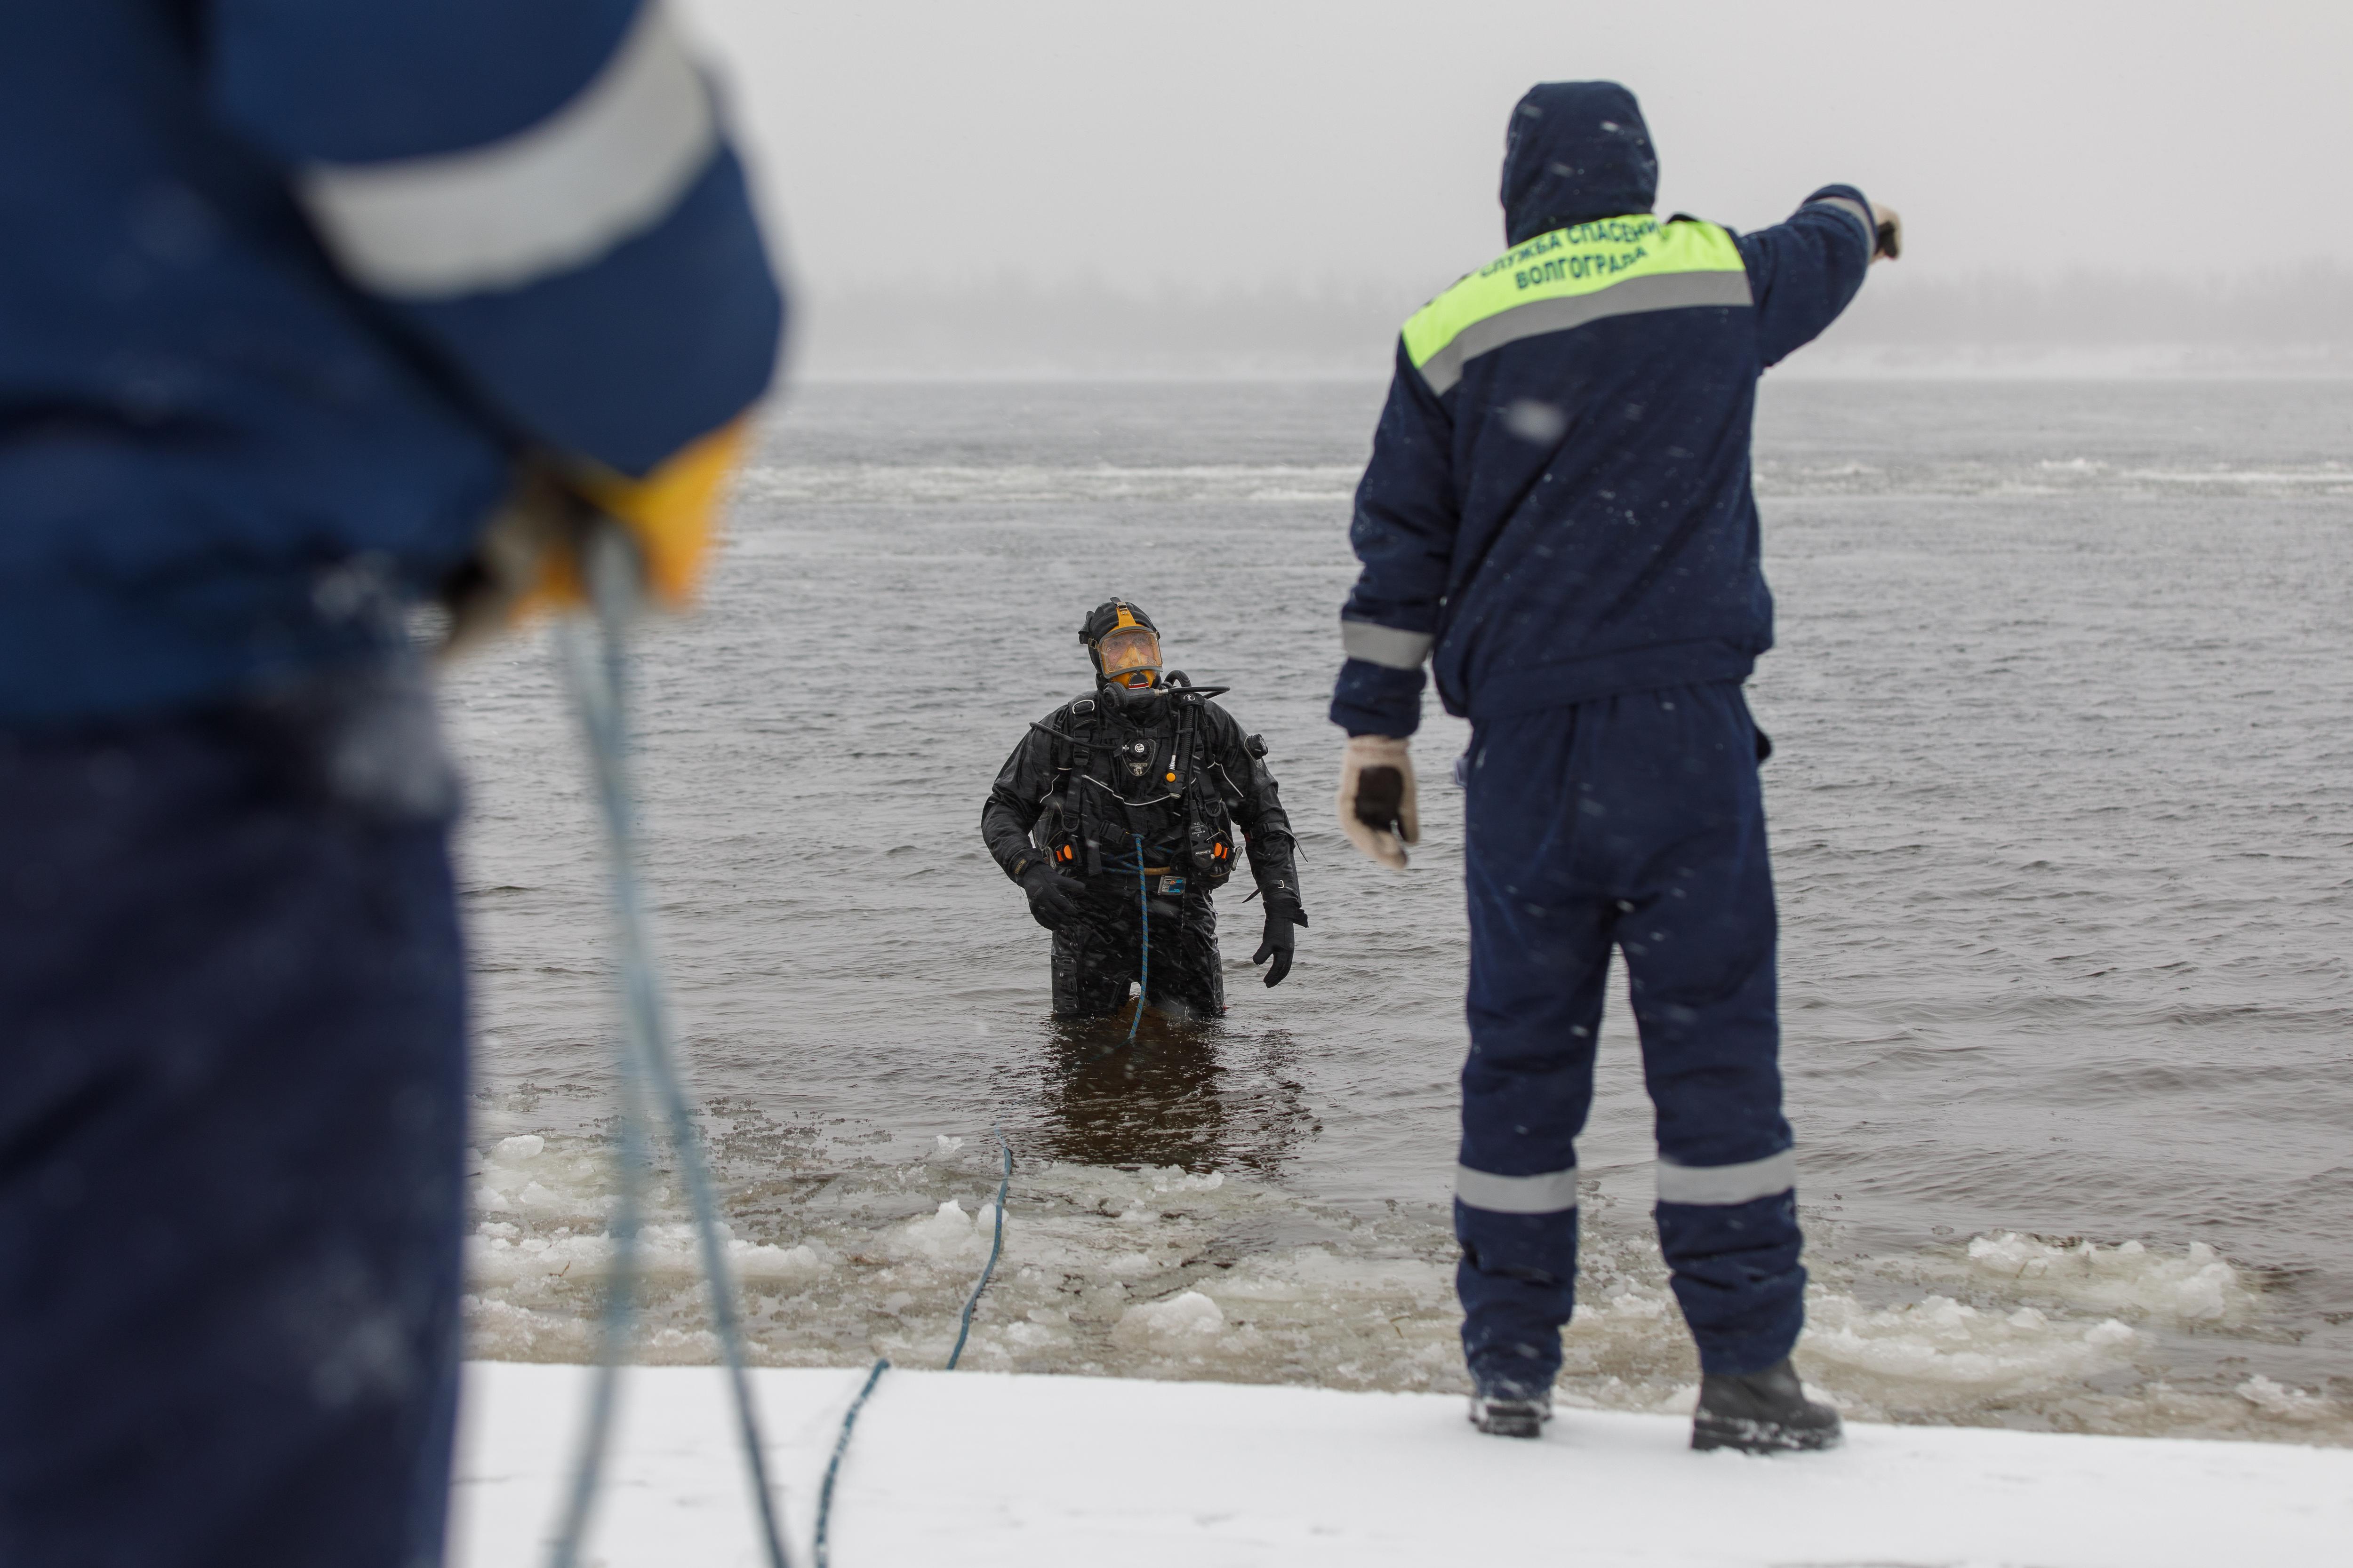
[[[555,639],[567,684],[572,686],[572,705],[579,710],[581,733],[588,743],[598,806],[605,820],[605,856],[612,870],[612,907],[621,994],[626,1001],[626,1046],[619,1072],[621,1128],[616,1140],[619,1199],[612,1225],[614,1260],[605,1295],[598,1375],[588,1403],[588,1422],[581,1432],[579,1458],[572,1469],[572,1490],[548,1552],[548,1563],[551,1568],[576,1568],[581,1540],[588,1533],[588,1514],[602,1483],[605,1455],[612,1446],[614,1394],[621,1361],[628,1356],[631,1319],[635,1314],[640,1192],[647,1166],[645,1088],[652,1084],[694,1204],[694,1232],[701,1244],[704,1276],[711,1284],[711,1321],[718,1328],[720,1354],[727,1361],[736,1439],[744,1448],[746,1481],[760,1514],[767,1563],[769,1568],[791,1568],[791,1559],[784,1552],[784,1530],[776,1523],[776,1505],[767,1486],[767,1460],[760,1446],[760,1418],[751,1399],[751,1378],[744,1373],[744,1335],[736,1321],[734,1281],[727,1272],[727,1248],[720,1241],[718,1199],[711,1190],[711,1171],[704,1164],[704,1147],[694,1126],[694,1103],[678,1077],[671,1025],[661,1004],[661,978],[654,966],[645,919],[645,896],[638,884],[638,823],[628,780],[626,722],[628,621],[638,607],[635,550],[612,524],[591,529],[581,545],[581,569],[588,578],[591,604],[595,607],[600,646],[591,649],[569,618],[555,623]]]

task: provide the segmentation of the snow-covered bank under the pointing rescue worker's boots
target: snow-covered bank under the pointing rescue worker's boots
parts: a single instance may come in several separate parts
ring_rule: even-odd
[[[864,1371],[753,1373],[793,1556]],[[456,1561],[534,1563],[588,1375],[478,1361]],[[1459,1399],[892,1368],[859,1418],[833,1561],[1588,1568],[2207,1568],[2353,1561],[2353,1450],[1849,1427],[1828,1455],[1694,1455],[1673,1415],[1562,1410],[1541,1443]],[[758,1561],[713,1368],[635,1368],[593,1563]]]

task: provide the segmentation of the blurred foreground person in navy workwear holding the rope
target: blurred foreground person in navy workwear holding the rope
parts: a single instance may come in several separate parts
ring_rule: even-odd
[[[438,1563],[407,611],[562,581],[553,496],[682,595],[784,324],[744,172],[654,2],[75,0],[0,190],[0,1561]]]

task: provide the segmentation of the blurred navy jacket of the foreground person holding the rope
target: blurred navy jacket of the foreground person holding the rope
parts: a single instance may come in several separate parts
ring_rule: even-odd
[[[0,212],[0,724],[369,656],[518,449],[645,475],[784,320],[656,0],[9,7]]]

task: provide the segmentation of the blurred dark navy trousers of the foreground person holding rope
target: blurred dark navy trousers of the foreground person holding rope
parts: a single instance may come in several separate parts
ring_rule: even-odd
[[[419,703],[0,731],[0,1563],[440,1561],[466,1048]]]

